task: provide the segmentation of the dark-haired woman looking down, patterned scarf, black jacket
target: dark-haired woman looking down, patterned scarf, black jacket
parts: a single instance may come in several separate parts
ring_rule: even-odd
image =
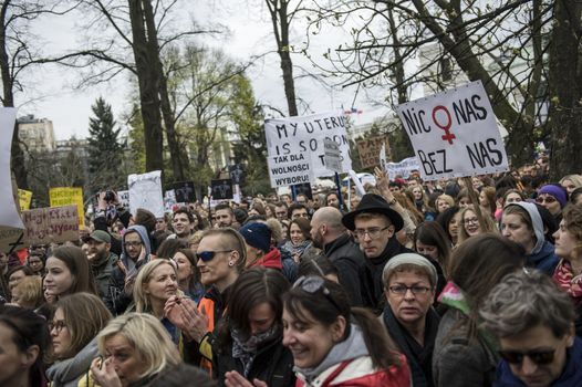
[[[241,378],[269,387],[295,385],[293,356],[281,343],[281,295],[288,289],[280,271],[266,268],[246,270],[235,282],[214,348],[214,373],[220,386],[236,385]]]

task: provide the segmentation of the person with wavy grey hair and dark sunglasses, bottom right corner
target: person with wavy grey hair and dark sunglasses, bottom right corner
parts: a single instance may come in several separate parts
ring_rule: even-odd
[[[582,386],[582,339],[572,302],[539,272],[503,279],[480,308],[484,327],[499,338],[496,386]]]

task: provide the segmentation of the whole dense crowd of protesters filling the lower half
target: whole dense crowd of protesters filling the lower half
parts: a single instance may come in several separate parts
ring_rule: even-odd
[[[582,386],[582,176],[544,168],[102,192],[80,240],[0,254],[0,386]]]

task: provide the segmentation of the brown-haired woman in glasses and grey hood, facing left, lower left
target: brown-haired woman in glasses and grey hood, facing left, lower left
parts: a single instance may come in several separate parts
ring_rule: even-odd
[[[97,356],[96,335],[112,315],[94,294],[75,293],[61,297],[49,323],[52,356],[55,363],[46,370],[51,387],[76,387]]]

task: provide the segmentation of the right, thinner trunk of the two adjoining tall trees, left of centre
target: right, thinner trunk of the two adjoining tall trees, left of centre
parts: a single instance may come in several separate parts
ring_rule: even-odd
[[[175,127],[174,113],[168,96],[168,83],[164,73],[164,66],[159,59],[159,45],[157,42],[156,22],[154,19],[154,10],[149,0],[144,0],[144,17],[147,27],[148,51],[156,52],[156,56],[152,57],[155,61],[155,71],[158,76],[158,93],[162,117],[164,118],[164,126],[166,129],[166,138],[168,140],[169,156],[172,161],[172,170],[174,172],[175,181],[185,181],[185,166],[188,167],[187,158],[183,157],[183,151],[179,148],[178,137]]]

